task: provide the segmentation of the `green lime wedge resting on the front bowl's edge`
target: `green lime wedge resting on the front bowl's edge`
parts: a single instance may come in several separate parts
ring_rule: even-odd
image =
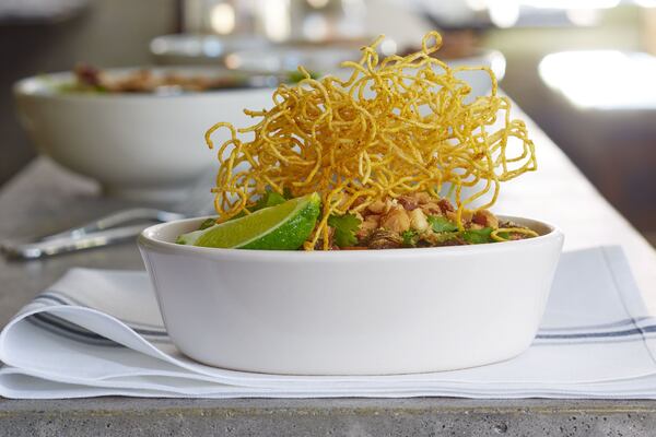
[[[321,200],[315,192],[180,235],[176,243],[234,249],[296,250],[315,228],[320,206]]]

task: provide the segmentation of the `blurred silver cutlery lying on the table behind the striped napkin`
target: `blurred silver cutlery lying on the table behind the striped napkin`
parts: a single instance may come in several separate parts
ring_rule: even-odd
[[[212,172],[213,177],[213,172]],[[105,215],[80,227],[43,237],[31,243],[5,241],[0,246],[9,258],[36,259],[94,247],[108,246],[137,237],[152,222],[169,222],[209,215],[213,210],[208,187],[210,174],[203,174],[189,189],[189,196],[172,210],[132,208]],[[141,222],[139,224],[129,224]],[[125,226],[120,226],[125,225]]]

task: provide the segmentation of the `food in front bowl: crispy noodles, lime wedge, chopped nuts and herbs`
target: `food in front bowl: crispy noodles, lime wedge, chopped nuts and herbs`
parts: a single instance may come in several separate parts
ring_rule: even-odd
[[[537,169],[534,143],[487,67],[450,68],[422,49],[380,59],[383,37],[347,61],[348,79],[280,85],[248,128],[225,129],[215,208],[178,243],[249,249],[387,249],[505,241],[538,234],[488,209],[501,182]],[[470,97],[458,73],[490,75]],[[449,200],[452,199],[452,200]],[[478,208],[475,202],[483,203]]]

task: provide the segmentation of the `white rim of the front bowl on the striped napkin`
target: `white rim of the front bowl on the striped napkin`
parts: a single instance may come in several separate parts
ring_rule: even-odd
[[[503,241],[503,244],[481,244],[481,245],[467,245],[467,246],[443,246],[443,247],[422,247],[422,248],[399,248],[399,249],[368,249],[368,250],[259,250],[259,249],[223,249],[214,247],[198,247],[188,245],[178,245],[171,241],[165,241],[155,238],[159,231],[165,227],[174,227],[183,224],[198,222],[200,223],[206,217],[191,217],[171,221],[166,223],[159,223],[143,229],[138,238],[137,243],[141,249],[156,249],[157,251],[165,252],[177,252],[177,255],[187,255],[192,257],[206,257],[206,258],[230,258],[230,259],[276,259],[276,260],[289,260],[289,261],[319,261],[319,260],[335,260],[344,258],[359,258],[359,259],[379,259],[379,258],[406,258],[406,257],[418,257],[418,256],[472,256],[481,252],[499,252],[504,250],[512,250],[526,246],[541,245],[548,240],[564,239],[564,233],[555,225],[538,221],[529,217],[522,217],[515,215],[497,215],[501,218],[518,222],[532,222],[544,226],[548,232],[538,237]]]

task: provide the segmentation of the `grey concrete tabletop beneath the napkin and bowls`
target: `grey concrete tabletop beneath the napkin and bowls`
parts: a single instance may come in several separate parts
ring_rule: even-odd
[[[596,191],[535,123],[528,120],[528,125],[536,143],[539,172],[524,175],[503,186],[494,211],[507,215],[537,217],[557,224],[566,235],[565,250],[600,245],[622,246],[647,308],[652,314],[656,314],[656,251]],[[95,184],[74,176],[42,157],[35,160],[0,191],[0,240],[58,232],[130,205],[126,201],[102,198]],[[0,260],[2,284],[0,327],[4,326],[21,306],[28,303],[34,295],[71,267],[143,269],[133,243],[45,260],[2,259]],[[52,429],[70,425],[71,432],[74,428],[79,433],[106,424],[107,433],[114,430],[119,435],[133,429],[130,426],[141,426],[139,425],[141,422],[133,421],[134,417],[144,416],[151,417],[147,422],[152,423],[153,426],[168,426],[166,428],[168,430],[177,429],[181,434],[190,433],[189,435],[194,435],[192,429],[206,429],[202,428],[201,423],[210,427],[215,426],[221,417],[219,422],[232,424],[221,428],[225,433],[238,428],[242,432],[250,429],[255,434],[259,429],[260,434],[267,434],[267,428],[262,426],[276,426],[278,420],[288,425],[296,424],[297,426],[293,426],[296,434],[286,429],[288,435],[304,435],[305,425],[311,426],[312,429],[313,422],[307,422],[308,416],[314,416],[318,421],[314,423],[317,426],[325,420],[326,433],[332,429],[339,434],[348,432],[352,435],[367,435],[366,433],[370,432],[373,435],[385,435],[396,425],[408,430],[411,424],[414,426],[412,429],[422,433],[426,430],[426,434],[432,429],[435,432],[434,435],[441,434],[440,429],[466,433],[467,429],[471,429],[468,426],[475,424],[481,426],[480,435],[487,435],[488,432],[491,435],[506,432],[508,435],[514,435],[513,433],[522,435],[527,429],[532,429],[531,426],[541,426],[544,433],[549,430],[559,434],[555,424],[562,425],[565,422],[567,424],[564,428],[559,426],[562,429],[572,429],[574,434],[576,429],[582,430],[587,427],[586,429],[596,429],[608,435],[622,430],[641,435],[643,426],[656,424],[656,403],[652,402],[444,399],[352,400],[345,404],[344,402],[347,401],[315,400],[308,404],[307,401],[262,400],[151,400],[148,402],[131,399],[0,400],[0,421],[15,423],[11,435],[21,433],[34,435],[34,429],[25,427],[25,424],[47,425],[52,426]],[[238,410],[238,413],[231,410],[233,406]],[[215,414],[212,415],[211,412]],[[372,422],[372,414],[378,417],[377,421]],[[235,415],[244,415],[248,426],[232,421],[231,417],[234,418]],[[467,415],[469,422],[462,422],[462,415]],[[75,417],[78,422],[73,421]],[[86,417],[86,422],[81,417]],[[207,422],[203,417],[214,417],[214,420]],[[529,420],[530,417],[532,418]],[[443,420],[446,422],[441,422]],[[578,425],[576,425],[577,420]],[[71,425],[73,423],[74,426]],[[378,426],[376,424],[383,428],[376,428]],[[522,425],[515,427],[513,424]],[[0,435],[3,435],[3,429],[9,428],[0,426]],[[164,428],[159,429],[163,432]],[[374,429],[377,432],[374,433]],[[560,434],[564,433],[562,429]],[[649,427],[644,429],[648,434]]]

